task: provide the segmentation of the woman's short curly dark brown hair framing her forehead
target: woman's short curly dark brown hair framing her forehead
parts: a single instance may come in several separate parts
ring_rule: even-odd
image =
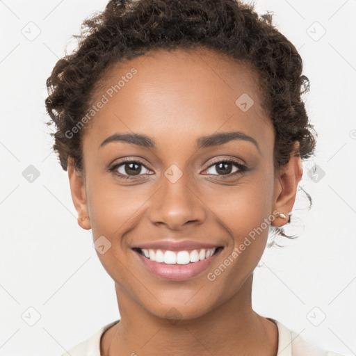
[[[296,47],[273,26],[270,12],[259,16],[254,5],[239,0],[111,0],[73,37],[78,38],[78,47],[56,63],[45,99],[51,118],[47,124],[56,124],[51,136],[63,170],[69,157],[77,170],[83,169],[84,130],[73,137],[66,132],[87,112],[109,65],[153,49],[198,46],[248,63],[257,73],[262,103],[275,129],[275,169],[288,163],[296,142],[301,159],[314,154],[317,134],[302,100],[309,80],[302,75]]]

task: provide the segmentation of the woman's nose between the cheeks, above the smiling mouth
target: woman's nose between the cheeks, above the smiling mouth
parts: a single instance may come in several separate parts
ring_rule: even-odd
[[[175,182],[163,176],[160,183],[161,188],[150,200],[149,218],[154,225],[164,224],[169,229],[179,230],[188,223],[200,225],[204,221],[204,202],[187,175]]]

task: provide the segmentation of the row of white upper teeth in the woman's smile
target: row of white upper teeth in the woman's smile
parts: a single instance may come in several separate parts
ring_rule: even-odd
[[[188,251],[174,252],[169,250],[163,253],[162,250],[142,249],[143,255],[147,259],[163,264],[189,264],[190,262],[202,261],[211,257],[215,251],[216,248],[209,250],[203,248],[202,250],[193,250],[190,253]]]

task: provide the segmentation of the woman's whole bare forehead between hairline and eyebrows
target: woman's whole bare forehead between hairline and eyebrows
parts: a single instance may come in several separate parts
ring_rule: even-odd
[[[236,129],[261,140],[273,129],[260,90],[252,68],[220,52],[149,51],[106,69],[92,100],[105,104],[90,121],[90,143],[115,132],[172,143]]]

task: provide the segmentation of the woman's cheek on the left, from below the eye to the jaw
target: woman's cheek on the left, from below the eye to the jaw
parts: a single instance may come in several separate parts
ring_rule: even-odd
[[[140,213],[150,195],[146,196],[144,189],[139,192],[137,186],[123,187],[113,181],[106,184],[103,181],[103,177],[93,176],[87,181],[92,238],[104,241],[105,251],[102,253],[97,248],[97,256],[108,275],[119,284],[129,285],[135,279],[124,267],[129,264],[125,249],[129,241],[125,233],[138,226]]]

